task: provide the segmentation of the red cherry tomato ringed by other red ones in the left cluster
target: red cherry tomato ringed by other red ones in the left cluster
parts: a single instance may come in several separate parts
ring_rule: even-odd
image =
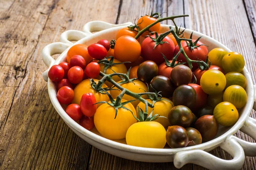
[[[78,84],[84,78],[84,71],[79,66],[71,67],[67,73],[68,80],[73,84]]]

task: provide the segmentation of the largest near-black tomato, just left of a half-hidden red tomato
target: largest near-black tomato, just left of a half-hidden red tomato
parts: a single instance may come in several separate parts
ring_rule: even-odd
[[[196,105],[195,89],[189,85],[180,85],[173,92],[172,102],[175,106],[183,105],[192,110]]]

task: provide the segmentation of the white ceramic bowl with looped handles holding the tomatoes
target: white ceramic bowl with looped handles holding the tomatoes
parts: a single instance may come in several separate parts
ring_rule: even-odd
[[[75,44],[90,45],[100,39],[112,40],[116,38],[116,33],[121,28],[130,26],[132,23],[124,23],[120,25],[113,25],[102,21],[92,21],[85,24],[83,31],[69,30],[61,34],[61,42],[54,42],[47,45],[42,51],[42,57],[44,63],[51,67],[57,65],[59,62],[64,61],[68,49]],[[160,33],[169,30],[168,25],[161,26]],[[91,32],[98,31],[94,34]],[[186,29],[185,37],[189,37],[192,30]],[[204,35],[199,32],[193,31],[193,38],[203,36],[201,41],[208,45],[208,50],[212,48],[221,47],[230,52],[230,49],[220,42]],[[77,41],[73,43],[71,41]],[[61,54],[58,59],[54,60],[51,56],[54,54]],[[48,69],[49,70],[49,69]],[[92,144],[94,147],[99,148],[112,155],[119,156],[125,159],[131,159],[136,161],[145,162],[169,162],[174,161],[175,167],[180,168],[184,164],[193,163],[198,164],[208,169],[219,170],[234,170],[240,169],[244,164],[244,158],[246,156],[256,156],[256,144],[243,141],[235,136],[239,129],[250,135],[253,139],[256,139],[256,120],[249,117],[255,101],[255,91],[252,79],[246,68],[242,71],[242,74],[247,79],[247,104],[239,111],[239,120],[232,127],[219,126],[218,134],[215,139],[199,144],[192,147],[184,147],[177,149],[154,149],[134,147],[125,144],[124,141],[112,141],[99,135],[96,131],[93,133],[84,129],[73,119],[71,119],[65,110],[61,107],[56,98],[55,84],[48,79],[48,70],[44,72],[43,77],[45,81],[48,81],[48,92],[52,105],[59,113],[61,118],[66,124],[82,139]],[[256,105],[255,105],[256,106]],[[255,107],[256,108],[256,107]],[[217,158],[209,153],[215,147],[220,146],[233,156],[232,160],[224,160]]]

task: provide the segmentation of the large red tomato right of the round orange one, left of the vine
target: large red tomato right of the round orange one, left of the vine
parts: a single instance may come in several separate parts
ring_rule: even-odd
[[[152,38],[156,38],[155,35],[151,36]],[[163,58],[163,55],[167,59],[172,59],[174,56],[174,43],[169,37],[165,37],[163,41],[168,43],[158,44],[155,48],[154,45],[156,42],[151,40],[150,37],[145,38],[141,44],[141,56],[145,60],[151,60],[157,63],[157,65],[160,65],[165,60]],[[162,55],[163,54],[163,55]]]

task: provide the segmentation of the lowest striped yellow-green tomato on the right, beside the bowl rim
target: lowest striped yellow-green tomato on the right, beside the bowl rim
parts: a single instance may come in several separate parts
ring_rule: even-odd
[[[221,102],[213,111],[213,115],[218,124],[222,126],[232,126],[238,120],[238,111],[236,107],[230,102]]]

